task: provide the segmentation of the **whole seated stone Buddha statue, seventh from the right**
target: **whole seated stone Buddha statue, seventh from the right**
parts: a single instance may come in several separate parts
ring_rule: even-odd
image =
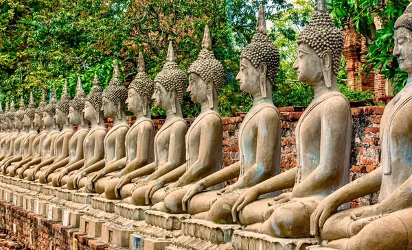
[[[115,60],[113,77],[102,93],[104,117],[113,119],[113,127],[104,138],[104,160],[90,166],[89,171],[95,173],[87,177],[84,192],[103,193],[113,172],[121,169],[120,162],[126,156],[125,141],[129,129],[126,121],[126,99],[127,89],[119,80],[119,65]]]

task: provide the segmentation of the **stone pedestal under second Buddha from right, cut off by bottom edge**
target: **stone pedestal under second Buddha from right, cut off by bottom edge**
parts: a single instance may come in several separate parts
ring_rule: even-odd
[[[305,250],[316,244],[316,238],[275,238],[244,230],[233,232],[231,240],[235,250]]]

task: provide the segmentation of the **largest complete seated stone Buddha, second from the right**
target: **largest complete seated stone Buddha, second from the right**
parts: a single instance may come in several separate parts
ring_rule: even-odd
[[[279,238],[310,236],[310,215],[325,197],[349,182],[350,173],[352,115],[336,80],[343,36],[334,27],[325,0],[317,1],[310,25],[297,42],[293,68],[300,82],[314,88],[314,99],[296,128],[297,167],[249,188],[232,208],[234,221],[247,225],[246,230]],[[293,191],[258,199],[286,188]]]

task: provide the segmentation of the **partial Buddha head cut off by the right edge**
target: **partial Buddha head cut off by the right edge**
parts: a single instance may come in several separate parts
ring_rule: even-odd
[[[412,73],[412,3],[395,23],[395,47],[393,55],[398,59],[400,70]]]

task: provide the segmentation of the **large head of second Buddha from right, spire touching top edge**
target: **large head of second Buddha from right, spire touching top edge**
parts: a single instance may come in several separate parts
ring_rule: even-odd
[[[327,88],[336,85],[342,49],[343,33],[334,26],[326,0],[315,1],[310,24],[297,39],[293,68],[299,82],[314,86],[324,81]]]

